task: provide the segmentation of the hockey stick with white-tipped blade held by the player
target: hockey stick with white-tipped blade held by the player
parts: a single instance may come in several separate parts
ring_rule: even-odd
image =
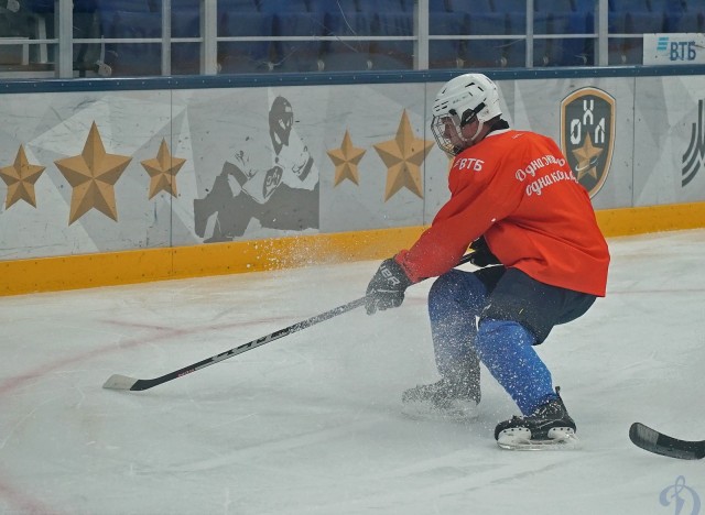
[[[473,254],[466,254],[463,256],[458,265],[464,263],[468,263],[471,260]],[[279,340],[280,338],[284,338],[285,336],[292,335],[294,332],[306,329],[311,326],[315,326],[318,322],[324,320],[328,320],[329,318],[337,317],[338,315],[343,315],[344,313],[348,313],[357,307],[360,307],[365,304],[365,298],[361,297],[357,300],[352,300],[350,303],[344,304],[343,306],[338,306],[333,308],[326,313],[322,313],[321,315],[316,315],[315,317],[311,317],[306,320],[300,321],[297,324],[293,324],[284,329],[280,329],[278,331],[271,332],[267,336],[258,338],[257,340],[248,341],[247,343],[242,343],[239,347],[227,350],[219,354],[213,355],[210,358],[206,358],[198,363],[191,364],[188,366],[184,366],[183,369],[176,370],[169,374],[162,375],[161,377],[155,377],[151,380],[140,380],[134,377],[129,377],[127,375],[113,374],[108,377],[108,381],[102,385],[104,388],[108,390],[131,390],[131,391],[142,391],[153,388],[162,383],[166,383],[167,381],[175,380],[181,377],[182,375],[191,374],[192,372],[196,372],[197,370],[205,369],[206,366],[210,366],[219,361],[227,360],[228,358],[232,358],[234,355],[241,354],[242,352],[247,352],[257,347],[263,346],[264,343],[269,343],[270,341]]]

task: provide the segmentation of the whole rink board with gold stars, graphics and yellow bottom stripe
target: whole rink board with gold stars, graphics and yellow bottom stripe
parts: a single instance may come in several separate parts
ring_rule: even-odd
[[[575,171],[593,152],[576,175],[608,235],[705,226],[705,77],[497,81],[514,128]],[[0,293],[389,255],[448,197],[429,129],[442,84],[3,92]]]

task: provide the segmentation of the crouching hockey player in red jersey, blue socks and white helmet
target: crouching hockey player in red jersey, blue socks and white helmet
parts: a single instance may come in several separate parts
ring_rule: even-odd
[[[550,445],[574,438],[575,423],[533,347],[605,296],[609,252],[555,142],[510,129],[501,114],[485,75],[440,90],[432,130],[454,157],[451,198],[409,250],[382,262],[366,308],[400,306],[406,287],[438,276],[429,314],[441,380],[404,392],[404,410],[473,416],[481,362],[522,414],[496,427],[498,443]],[[482,267],[454,270],[468,245]]]

